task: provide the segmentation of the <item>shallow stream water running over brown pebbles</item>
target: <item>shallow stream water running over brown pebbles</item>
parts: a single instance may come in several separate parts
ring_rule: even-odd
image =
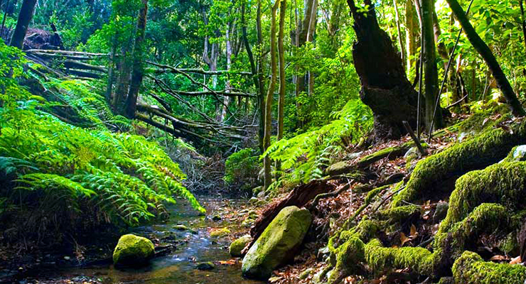
[[[240,209],[245,202],[240,200],[200,200],[207,209],[207,215],[221,212],[225,207]],[[89,267],[89,268],[65,268],[60,271],[49,271],[37,275],[39,283],[45,283],[50,279],[72,279],[81,282],[83,279],[96,278],[102,283],[237,283],[256,284],[261,283],[247,280],[241,276],[241,264],[238,261],[233,265],[222,265],[216,263],[212,271],[199,271],[195,269],[196,263],[203,261],[230,261],[232,258],[228,253],[230,244],[229,236],[223,238],[210,237],[210,228],[222,228],[227,226],[232,232],[240,230],[240,224],[230,223],[228,219],[220,222],[199,216],[198,212],[182,200],[178,204],[168,207],[171,217],[165,222],[141,226],[133,229],[133,234],[154,237],[161,240],[167,236],[171,239],[181,240],[173,253],[168,256],[154,258],[151,265],[140,269],[116,269],[112,265]],[[176,224],[183,224],[190,231],[177,231],[173,229]],[[40,273],[39,273],[40,274]]]

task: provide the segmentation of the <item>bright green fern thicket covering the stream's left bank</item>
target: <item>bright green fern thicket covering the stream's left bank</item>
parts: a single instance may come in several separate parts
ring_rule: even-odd
[[[1,40],[0,59],[0,220],[10,231],[136,226],[166,214],[176,196],[205,211],[158,143],[114,132],[132,122],[114,116],[92,84],[24,77],[24,65],[38,65]],[[18,84],[31,80],[45,91]]]

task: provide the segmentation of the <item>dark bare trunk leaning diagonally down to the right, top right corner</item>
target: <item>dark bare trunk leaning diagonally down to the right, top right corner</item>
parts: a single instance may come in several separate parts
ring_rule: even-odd
[[[512,114],[514,116],[525,116],[526,112],[522,108],[519,99],[517,99],[517,96],[515,95],[508,78],[504,74],[497,59],[495,58],[495,55],[493,55],[488,45],[485,44],[484,40],[482,40],[482,38],[478,35],[473,26],[471,26],[466,13],[464,13],[462,7],[460,4],[458,4],[458,1],[446,1],[451,7],[451,11],[453,11],[455,18],[458,20],[458,22],[460,22],[462,29],[464,33],[466,33],[471,45],[473,45],[473,48],[475,48],[478,54],[481,55],[488,65],[490,71],[493,73],[493,77],[495,77],[495,80],[497,81],[497,86],[500,91],[503,92],[506,102],[508,102],[508,105],[510,106]]]

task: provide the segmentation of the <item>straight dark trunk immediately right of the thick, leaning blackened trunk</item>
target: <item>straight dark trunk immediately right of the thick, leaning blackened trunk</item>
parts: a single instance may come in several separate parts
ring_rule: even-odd
[[[434,128],[442,126],[442,112],[439,106],[436,108],[436,115],[433,117],[436,98],[439,95],[439,72],[436,68],[436,47],[433,31],[433,11],[432,0],[420,0],[422,9],[422,40],[424,40],[424,75],[425,75],[425,116],[424,122],[426,129],[431,127],[434,120]],[[433,130],[431,129],[431,133]]]

